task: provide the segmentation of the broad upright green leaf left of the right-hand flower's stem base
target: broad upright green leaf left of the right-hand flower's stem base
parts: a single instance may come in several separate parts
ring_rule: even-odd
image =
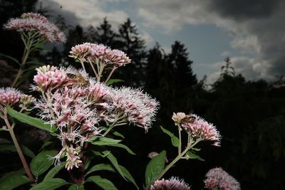
[[[157,177],[165,168],[165,156],[166,151],[163,150],[156,157],[152,158],[147,164],[147,168],[145,169],[145,186],[147,188],[150,186],[150,184],[157,180]]]

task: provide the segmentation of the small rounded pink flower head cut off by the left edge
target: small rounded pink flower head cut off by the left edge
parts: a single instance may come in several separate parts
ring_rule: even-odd
[[[14,88],[0,88],[0,103],[2,105],[14,105],[20,101],[21,93]]]

